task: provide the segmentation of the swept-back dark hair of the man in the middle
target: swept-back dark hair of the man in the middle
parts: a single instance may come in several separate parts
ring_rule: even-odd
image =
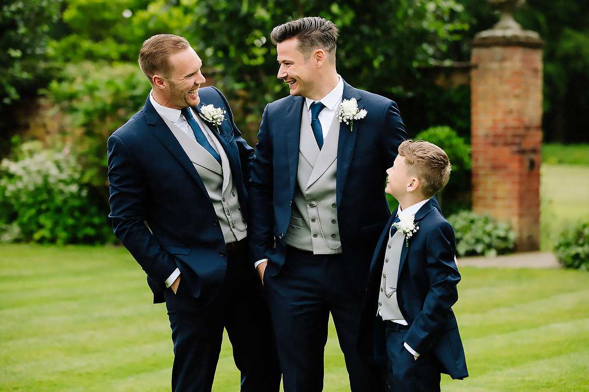
[[[277,45],[288,39],[297,38],[299,51],[305,58],[309,58],[314,49],[321,48],[329,54],[335,64],[338,33],[339,29],[333,22],[319,16],[309,16],[274,27],[270,39]]]

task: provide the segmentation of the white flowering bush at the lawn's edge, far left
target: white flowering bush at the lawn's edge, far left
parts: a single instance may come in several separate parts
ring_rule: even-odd
[[[111,236],[75,157],[67,150],[21,145],[16,159],[0,163],[0,241],[104,243]]]

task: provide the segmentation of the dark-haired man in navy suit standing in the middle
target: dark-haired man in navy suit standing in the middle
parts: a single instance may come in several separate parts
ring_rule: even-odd
[[[352,392],[386,390],[356,348],[370,260],[391,215],[385,171],[407,138],[395,102],[336,71],[323,18],[273,29],[290,96],[264,109],[252,167],[250,245],[270,304],[285,392],[323,389],[329,317]]]

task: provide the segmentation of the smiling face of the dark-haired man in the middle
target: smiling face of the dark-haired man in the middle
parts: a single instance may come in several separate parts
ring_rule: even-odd
[[[315,100],[323,98],[321,95],[319,71],[315,62],[305,56],[299,50],[299,40],[297,38],[287,39],[276,45],[278,52],[278,70],[277,78],[282,79],[290,87],[290,95],[307,97]]]

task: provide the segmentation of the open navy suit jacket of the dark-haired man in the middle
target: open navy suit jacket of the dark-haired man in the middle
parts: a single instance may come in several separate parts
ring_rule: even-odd
[[[395,102],[344,83],[343,99],[356,98],[365,118],[342,122],[337,146],[336,207],[343,260],[350,280],[363,293],[376,239],[391,210],[386,170],[407,138]],[[284,235],[297,187],[299,141],[305,98],[286,97],[264,109],[250,188],[249,237],[253,261],[268,258],[266,274],[284,264]]]

